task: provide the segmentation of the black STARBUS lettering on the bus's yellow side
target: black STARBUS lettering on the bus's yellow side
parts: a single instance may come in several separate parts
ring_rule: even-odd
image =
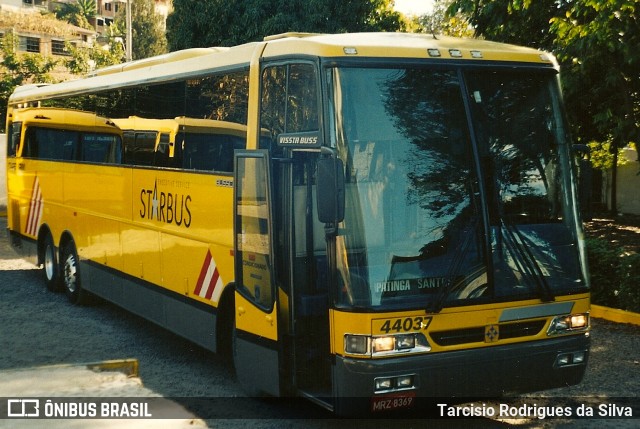
[[[153,189],[140,190],[140,217],[189,228],[191,226],[191,195],[158,190],[158,180]]]

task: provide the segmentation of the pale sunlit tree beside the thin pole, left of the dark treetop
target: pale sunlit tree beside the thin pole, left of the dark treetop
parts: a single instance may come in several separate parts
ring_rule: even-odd
[[[189,13],[197,15],[192,9]],[[116,32],[122,37],[126,34],[126,11],[121,9],[114,24]],[[131,33],[133,38],[132,56],[134,60],[149,58],[167,52],[167,38],[164,22],[160,14],[156,13],[153,0],[131,1]]]

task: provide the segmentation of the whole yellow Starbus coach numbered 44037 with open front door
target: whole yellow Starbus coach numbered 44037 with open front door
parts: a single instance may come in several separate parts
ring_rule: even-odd
[[[576,384],[589,276],[558,73],[488,41],[288,33],[22,88],[9,234],[73,302],[232,352],[252,395],[348,414]],[[190,167],[189,133],[149,140],[166,164],[43,158],[40,109],[125,142],[165,131],[122,118],[240,124],[242,147],[223,169]]]

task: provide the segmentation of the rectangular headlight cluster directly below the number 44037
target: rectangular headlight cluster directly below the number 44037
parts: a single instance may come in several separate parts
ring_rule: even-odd
[[[422,333],[367,336],[346,334],[344,350],[348,354],[384,356],[396,353],[428,352],[431,346]]]

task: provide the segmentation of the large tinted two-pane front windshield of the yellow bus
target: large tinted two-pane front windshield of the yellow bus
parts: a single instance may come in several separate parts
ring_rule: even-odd
[[[338,306],[440,311],[586,288],[554,72],[342,67],[330,79],[346,170]]]

